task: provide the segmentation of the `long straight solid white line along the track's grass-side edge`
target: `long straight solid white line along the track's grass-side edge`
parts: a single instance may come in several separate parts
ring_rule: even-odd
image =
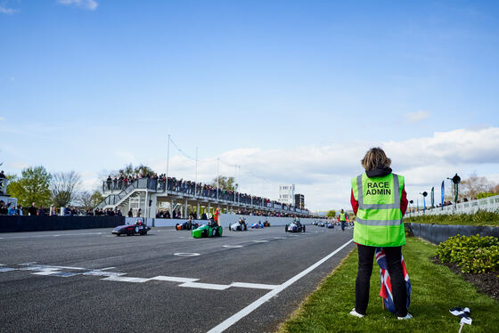
[[[286,282],[282,283],[278,288],[273,289],[272,291],[266,293],[266,295],[261,296],[258,298],[255,302],[251,303],[250,305],[246,306],[244,309],[242,309],[238,313],[234,313],[231,317],[227,318],[225,321],[222,321],[220,324],[218,324],[216,327],[213,329],[210,329],[208,333],[218,333],[218,332],[223,332],[225,329],[230,328],[235,324],[237,321],[241,321],[242,318],[246,317],[249,313],[252,313],[256,309],[258,309],[259,306],[264,305],[269,299],[271,299],[274,296],[277,296],[282,290],[285,288],[290,287],[291,284],[295,283],[297,280],[303,278],[305,275],[307,275],[309,272],[312,272],[317,268],[319,265],[323,264],[325,261],[327,261],[331,256],[336,255],[339,251],[341,251],[343,248],[346,248],[348,244],[350,244],[354,240],[348,240],[345,244],[331,252],[329,255],[324,256],[321,260],[316,262],[315,264],[311,265],[308,267],[305,271],[299,272],[299,274],[293,276],[290,280],[287,280]]]

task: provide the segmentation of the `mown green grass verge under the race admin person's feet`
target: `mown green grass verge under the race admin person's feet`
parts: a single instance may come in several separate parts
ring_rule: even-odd
[[[364,318],[350,316],[355,305],[357,254],[354,249],[321,286],[292,313],[279,332],[457,332],[460,318],[449,313],[455,306],[468,306],[473,323],[466,332],[499,332],[499,302],[479,294],[470,283],[446,266],[431,263],[437,247],[407,238],[403,248],[412,284],[409,312],[414,319],[398,321],[382,310],[380,271],[374,262],[370,303]]]

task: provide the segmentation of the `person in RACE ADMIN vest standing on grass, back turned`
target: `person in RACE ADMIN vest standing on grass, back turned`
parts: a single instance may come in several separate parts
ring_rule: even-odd
[[[362,159],[365,173],[352,178],[350,202],[356,215],[354,242],[358,251],[356,307],[351,315],[362,318],[369,303],[372,258],[376,248],[384,248],[391,280],[395,314],[411,319],[407,312],[402,246],[405,230],[402,217],[407,209],[404,176],[392,174],[391,160],[380,148],[368,150]]]

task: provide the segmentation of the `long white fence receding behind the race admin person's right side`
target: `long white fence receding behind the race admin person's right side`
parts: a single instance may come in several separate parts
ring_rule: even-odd
[[[471,200],[461,202],[457,205],[442,207],[435,207],[426,209],[426,212],[420,210],[419,212],[409,213],[406,217],[421,216],[421,215],[442,215],[442,214],[473,214],[478,210],[487,210],[495,212],[499,210],[499,195],[483,199]]]

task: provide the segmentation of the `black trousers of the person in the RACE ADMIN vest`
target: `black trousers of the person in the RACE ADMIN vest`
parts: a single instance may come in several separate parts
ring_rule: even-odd
[[[357,244],[358,272],[356,279],[356,312],[365,314],[369,303],[369,285],[372,274],[372,264],[376,247]],[[402,247],[384,248],[387,258],[395,314],[405,317],[407,314],[404,272],[402,272]]]

